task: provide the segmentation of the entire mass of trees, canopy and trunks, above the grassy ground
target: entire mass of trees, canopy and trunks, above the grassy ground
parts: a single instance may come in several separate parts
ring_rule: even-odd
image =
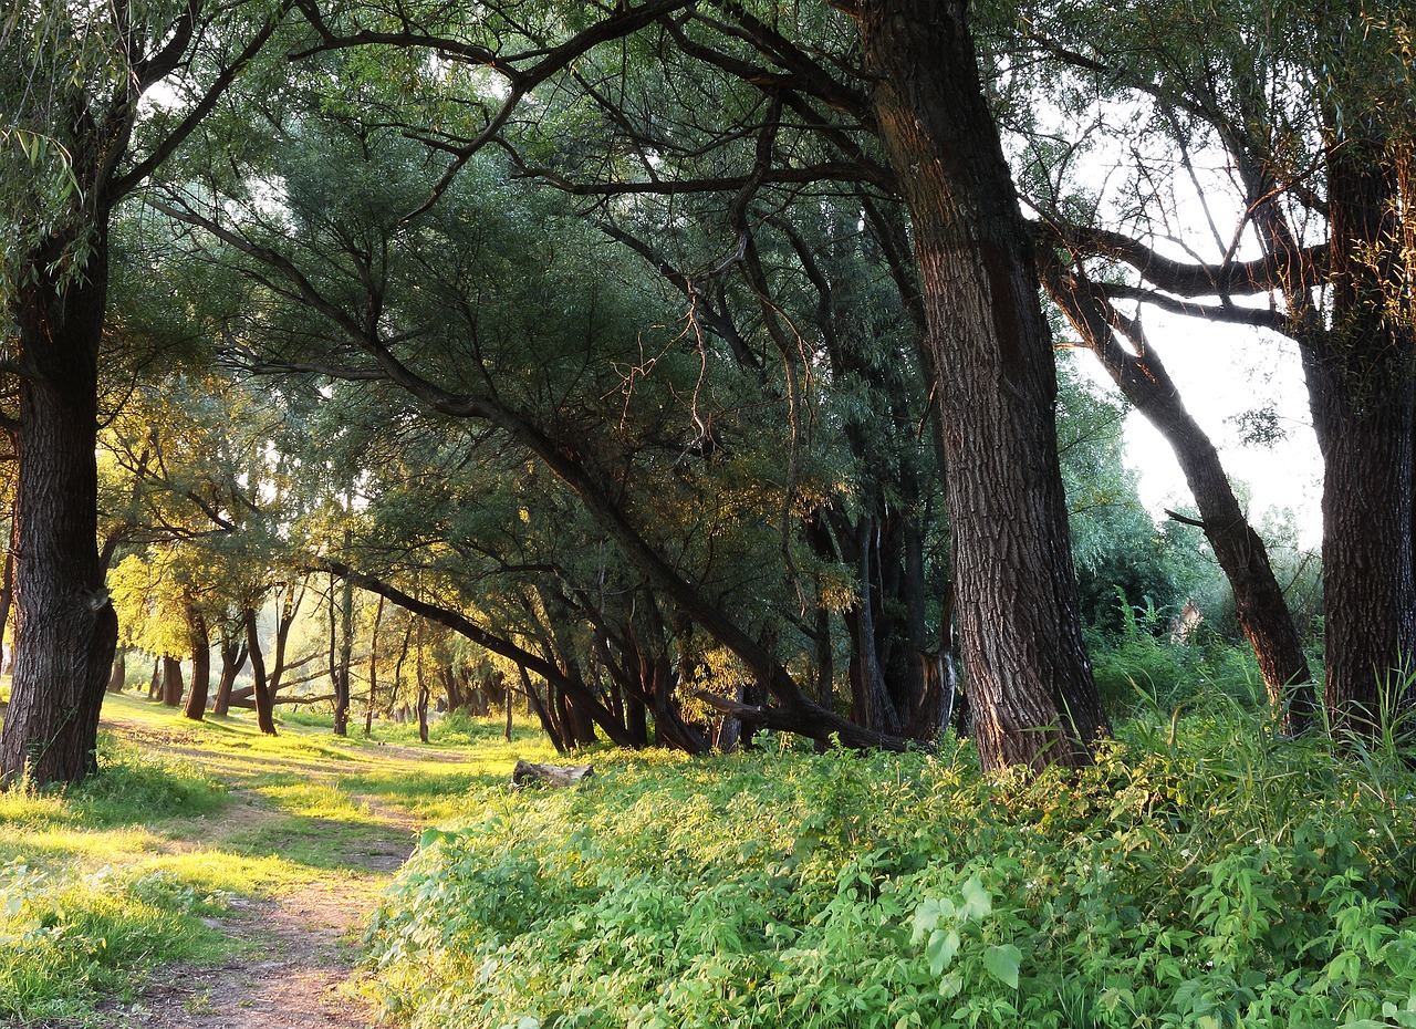
[[[1283,583],[1144,306],[1298,343],[1331,720],[1409,702],[1400,10],[33,7],[0,25],[11,778],[91,767],[115,607],[153,653],[219,637],[224,682],[245,640],[268,716],[296,616],[266,684],[261,611],[310,576],[346,715],[412,654],[568,747],[901,749],[961,684],[986,767],[1085,764],[1087,641],[1212,589],[1189,529],[1301,732]],[[1141,511],[1070,335],[1194,515]]]

